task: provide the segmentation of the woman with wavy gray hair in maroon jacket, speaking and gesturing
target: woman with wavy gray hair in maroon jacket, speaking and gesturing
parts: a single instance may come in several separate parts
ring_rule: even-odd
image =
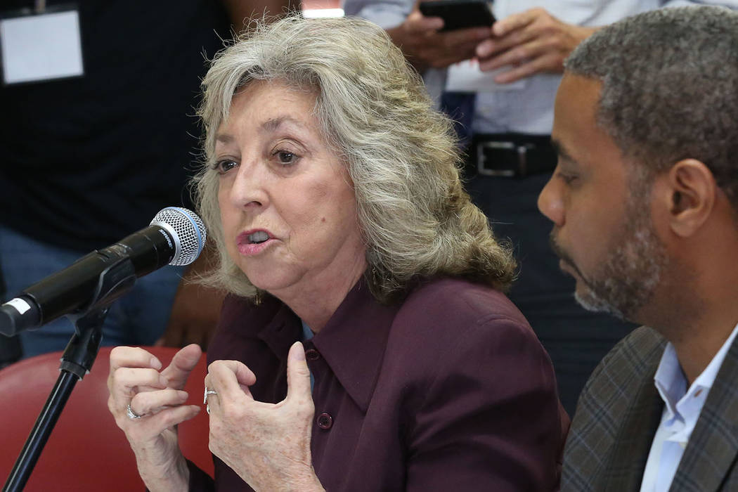
[[[449,120],[384,31],[292,17],[215,59],[200,115],[215,489],[558,488],[568,417],[503,290],[514,260],[459,179]],[[109,406],[151,491],[213,490],[176,424],[200,349],[111,353]]]

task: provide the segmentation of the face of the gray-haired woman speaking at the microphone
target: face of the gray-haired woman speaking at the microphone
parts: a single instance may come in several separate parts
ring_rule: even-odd
[[[312,114],[315,94],[254,82],[216,135],[226,247],[256,287],[286,299],[356,278],[365,247],[348,172]]]

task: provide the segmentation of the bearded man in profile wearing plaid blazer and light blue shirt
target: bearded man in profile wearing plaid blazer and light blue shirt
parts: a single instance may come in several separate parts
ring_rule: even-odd
[[[656,10],[565,63],[539,196],[593,311],[638,322],[584,387],[562,491],[738,490],[738,14]]]

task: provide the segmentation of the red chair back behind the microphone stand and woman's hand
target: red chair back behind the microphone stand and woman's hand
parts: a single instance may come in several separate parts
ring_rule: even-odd
[[[143,491],[136,459],[123,431],[108,412],[110,350],[100,348],[92,371],[77,381],[24,491]],[[144,347],[164,367],[178,349]],[[61,352],[27,358],[0,370],[0,480],[4,483],[59,375]],[[201,357],[184,388],[187,403],[202,406],[207,373]],[[204,408],[179,426],[184,456],[213,475]]]

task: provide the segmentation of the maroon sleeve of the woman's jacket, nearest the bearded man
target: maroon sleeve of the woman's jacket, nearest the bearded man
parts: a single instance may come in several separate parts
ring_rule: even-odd
[[[533,330],[479,323],[440,359],[410,415],[406,490],[558,490],[569,421]]]

